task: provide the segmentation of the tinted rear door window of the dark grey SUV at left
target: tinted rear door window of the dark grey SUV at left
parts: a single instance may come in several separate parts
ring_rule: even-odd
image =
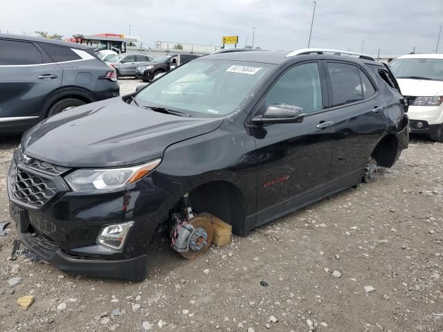
[[[0,65],[41,63],[42,53],[33,43],[0,39]]]

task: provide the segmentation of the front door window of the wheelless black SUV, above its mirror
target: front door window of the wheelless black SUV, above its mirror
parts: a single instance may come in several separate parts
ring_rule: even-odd
[[[320,73],[316,62],[300,64],[284,73],[266,95],[270,104],[301,107],[305,113],[323,109]]]

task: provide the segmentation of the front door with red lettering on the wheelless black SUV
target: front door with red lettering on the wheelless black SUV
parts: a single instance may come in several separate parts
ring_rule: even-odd
[[[332,154],[332,115],[323,68],[305,62],[282,73],[266,93],[257,113],[270,104],[301,107],[301,123],[253,128],[257,145],[257,225],[295,210],[322,193]],[[257,114],[256,113],[256,114]]]

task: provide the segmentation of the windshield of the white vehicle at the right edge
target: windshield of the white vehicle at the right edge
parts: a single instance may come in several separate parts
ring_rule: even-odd
[[[390,63],[390,68],[397,78],[443,80],[443,59],[396,59]]]

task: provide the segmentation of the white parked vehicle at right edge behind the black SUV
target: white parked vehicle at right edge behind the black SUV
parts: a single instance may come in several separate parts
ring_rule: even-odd
[[[410,131],[443,142],[443,54],[403,55],[390,68],[410,105]]]

